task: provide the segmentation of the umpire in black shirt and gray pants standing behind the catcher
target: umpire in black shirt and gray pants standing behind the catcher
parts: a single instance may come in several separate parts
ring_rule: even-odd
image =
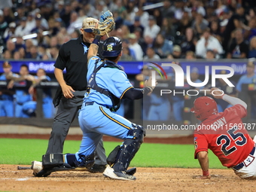
[[[60,87],[53,99],[53,105],[55,107],[59,105],[59,108],[54,117],[46,154],[62,153],[69,126],[83,103],[87,89],[87,52],[95,37],[92,29],[98,22],[92,17],[84,19],[80,29],[81,36],[66,42],[59,49],[59,56],[54,64],[54,75]],[[66,69],[65,78],[64,69]],[[96,149],[96,162],[90,172],[103,172],[106,164],[105,149],[101,139]]]

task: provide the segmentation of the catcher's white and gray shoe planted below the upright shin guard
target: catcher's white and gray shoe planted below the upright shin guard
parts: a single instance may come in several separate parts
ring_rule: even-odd
[[[106,167],[103,175],[108,178],[114,178],[118,180],[128,180],[128,181],[135,181],[136,177],[133,175],[128,175],[126,172],[115,172],[113,168],[109,165]]]

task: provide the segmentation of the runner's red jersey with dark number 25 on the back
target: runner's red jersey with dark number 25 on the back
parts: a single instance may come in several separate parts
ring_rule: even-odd
[[[246,114],[242,105],[233,105],[203,120],[194,131],[195,159],[198,152],[211,149],[223,166],[242,163],[254,147],[241,120]]]

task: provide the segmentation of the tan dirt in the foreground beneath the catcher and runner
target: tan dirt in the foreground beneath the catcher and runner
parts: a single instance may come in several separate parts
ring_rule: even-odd
[[[230,169],[212,169],[212,178],[200,180],[200,169],[137,168],[136,181],[117,181],[90,172],[53,172],[35,178],[32,170],[0,165],[0,191],[253,191]]]

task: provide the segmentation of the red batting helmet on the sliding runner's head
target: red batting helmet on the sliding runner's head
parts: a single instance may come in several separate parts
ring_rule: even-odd
[[[198,120],[206,120],[212,114],[218,114],[217,103],[209,96],[201,96],[194,100],[194,107],[190,109]]]

